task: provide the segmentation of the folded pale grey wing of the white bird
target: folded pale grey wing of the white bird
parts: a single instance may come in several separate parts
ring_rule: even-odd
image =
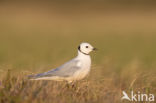
[[[45,73],[37,74],[35,78],[51,77],[51,76],[59,76],[59,77],[72,76],[77,70],[81,68],[80,64],[81,63],[79,60],[71,60],[56,69],[53,69]]]

